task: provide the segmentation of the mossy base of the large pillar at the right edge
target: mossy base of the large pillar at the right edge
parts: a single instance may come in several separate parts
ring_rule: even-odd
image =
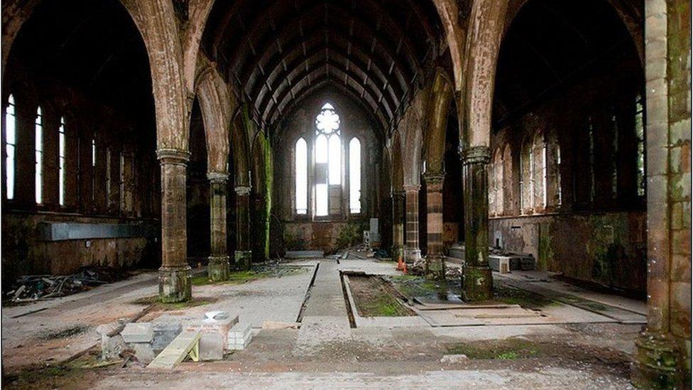
[[[684,375],[676,343],[666,335],[640,332],[635,340],[635,360],[631,365],[631,382],[641,389],[684,388]],[[690,386],[690,383],[688,383]]]

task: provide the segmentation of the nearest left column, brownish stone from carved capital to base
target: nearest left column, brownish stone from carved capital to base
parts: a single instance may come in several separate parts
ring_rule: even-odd
[[[161,165],[159,298],[163,302],[181,302],[192,298],[185,225],[185,167],[190,153],[159,149],[157,156]]]

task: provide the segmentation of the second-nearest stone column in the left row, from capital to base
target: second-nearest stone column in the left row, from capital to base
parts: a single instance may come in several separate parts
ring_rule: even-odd
[[[225,281],[229,278],[229,254],[227,253],[227,180],[226,172],[209,172],[209,266],[210,281]]]

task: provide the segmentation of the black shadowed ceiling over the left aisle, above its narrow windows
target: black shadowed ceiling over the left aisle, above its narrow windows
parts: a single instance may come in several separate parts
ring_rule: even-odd
[[[9,67],[153,122],[146,47],[118,0],[41,1],[17,34]]]

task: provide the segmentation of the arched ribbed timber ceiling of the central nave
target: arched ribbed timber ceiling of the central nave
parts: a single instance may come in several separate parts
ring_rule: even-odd
[[[362,102],[385,130],[439,39],[430,0],[217,1],[202,50],[263,126],[329,84]]]

